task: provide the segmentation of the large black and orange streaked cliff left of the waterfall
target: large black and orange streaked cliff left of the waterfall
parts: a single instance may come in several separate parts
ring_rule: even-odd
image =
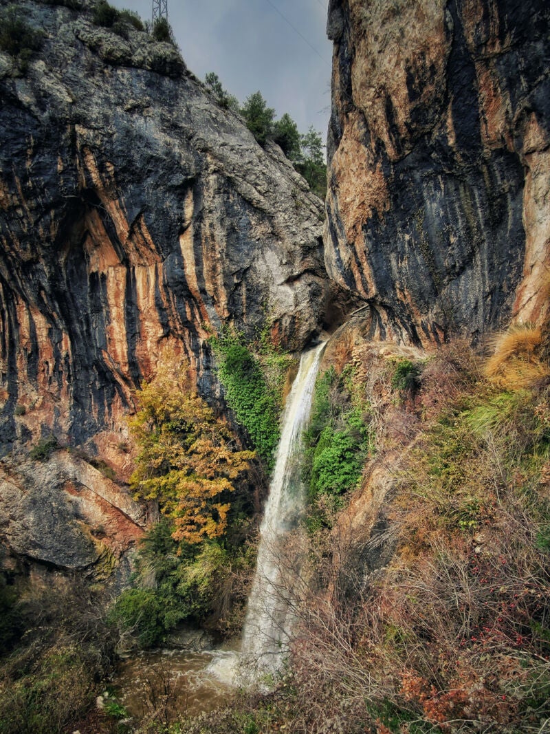
[[[93,26],[85,4],[18,11],[44,38],[24,74],[0,54],[1,454],[53,433],[123,478],[124,418],[164,346],[212,395],[207,339],[223,324],[252,334],[268,319],[290,349],[318,333],[322,205],[172,46]],[[6,471],[4,498],[23,517],[29,498],[15,502],[14,487],[37,479],[17,458]],[[54,505],[90,490],[75,472],[67,458],[62,479],[44,473]]]

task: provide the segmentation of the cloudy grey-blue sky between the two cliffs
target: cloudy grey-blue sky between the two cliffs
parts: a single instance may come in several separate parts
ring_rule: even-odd
[[[151,18],[152,0],[111,4]],[[328,0],[168,0],[168,18],[199,79],[216,72],[241,103],[260,90],[276,117],[288,112],[301,133],[312,125],[324,141],[332,56],[327,7]]]

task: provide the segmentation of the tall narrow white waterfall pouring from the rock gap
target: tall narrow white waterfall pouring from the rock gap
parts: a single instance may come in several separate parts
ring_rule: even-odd
[[[304,509],[300,481],[301,434],[309,418],[313,388],[324,344],[304,352],[287,398],[273,479],[260,526],[256,575],[243,628],[241,657],[257,672],[279,668],[288,649],[296,596],[301,581],[301,552],[296,539]]]

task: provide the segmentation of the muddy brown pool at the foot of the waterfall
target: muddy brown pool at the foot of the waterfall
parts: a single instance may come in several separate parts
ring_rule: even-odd
[[[170,721],[225,705],[236,661],[232,650],[136,653],[121,661],[112,683],[131,716]]]

